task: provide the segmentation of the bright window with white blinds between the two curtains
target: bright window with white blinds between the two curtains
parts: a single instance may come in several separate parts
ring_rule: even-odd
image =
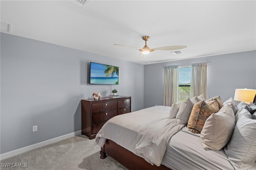
[[[191,67],[190,65],[179,66],[179,91],[178,101],[184,101],[190,97]]]

